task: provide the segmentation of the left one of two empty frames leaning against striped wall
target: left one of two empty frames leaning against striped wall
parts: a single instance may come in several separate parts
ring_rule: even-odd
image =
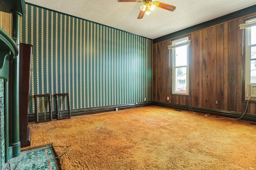
[[[34,95],[36,123],[52,121],[52,99],[50,94]]]

